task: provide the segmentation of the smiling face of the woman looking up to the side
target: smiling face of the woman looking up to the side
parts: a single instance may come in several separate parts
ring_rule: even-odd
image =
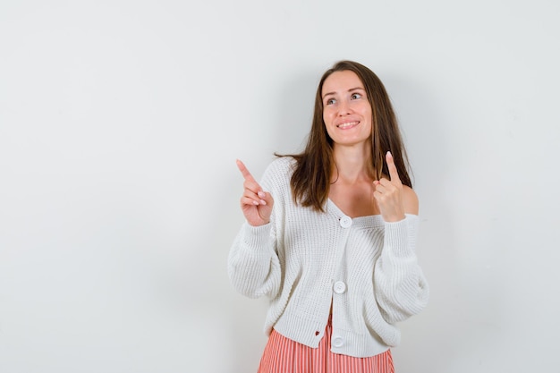
[[[369,144],[371,105],[355,72],[333,72],[323,83],[323,121],[338,145]]]

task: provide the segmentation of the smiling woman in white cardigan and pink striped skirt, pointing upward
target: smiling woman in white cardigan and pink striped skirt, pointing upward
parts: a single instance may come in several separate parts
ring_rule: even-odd
[[[259,372],[393,372],[399,321],[428,302],[419,203],[386,89],[369,68],[321,78],[307,146],[256,182],[241,161],[246,223],[230,250],[237,291],[267,296]]]

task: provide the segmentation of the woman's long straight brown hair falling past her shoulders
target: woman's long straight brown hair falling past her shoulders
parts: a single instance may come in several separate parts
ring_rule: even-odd
[[[319,81],[311,131],[303,152],[288,156],[277,155],[293,157],[296,160],[290,181],[294,202],[316,211],[324,211],[334,163],[333,140],[328,136],[323,121],[323,99],[321,97],[323,84],[333,72],[343,71],[355,72],[358,75],[366,90],[369,105],[371,105],[371,176],[375,180],[388,176],[385,157],[386,152],[391,151],[401,182],[412,188],[408,173],[410,165],[385,86],[368,67],[353,61],[340,61],[327,70]]]

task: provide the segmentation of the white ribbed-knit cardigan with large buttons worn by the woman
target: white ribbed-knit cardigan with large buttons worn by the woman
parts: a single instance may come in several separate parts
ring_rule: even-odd
[[[418,216],[349,219],[328,199],[326,213],[293,204],[293,158],[272,162],[260,185],[275,205],[270,223],[242,225],[228,259],[233,287],[270,305],[265,332],[317,348],[333,304],[332,351],[374,356],[400,342],[396,322],[420,312],[428,283],[415,254]],[[346,224],[350,221],[350,225]],[[336,282],[345,291],[334,292]]]

